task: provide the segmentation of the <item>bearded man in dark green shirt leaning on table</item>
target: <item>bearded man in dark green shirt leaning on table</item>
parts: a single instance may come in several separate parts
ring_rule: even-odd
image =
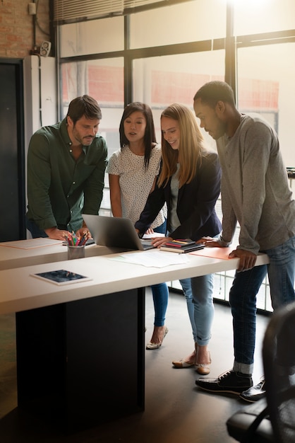
[[[97,134],[101,118],[94,98],[77,97],[64,120],[32,135],[26,217],[33,238],[80,236],[88,231],[82,214],[98,214],[107,166],[107,144]]]

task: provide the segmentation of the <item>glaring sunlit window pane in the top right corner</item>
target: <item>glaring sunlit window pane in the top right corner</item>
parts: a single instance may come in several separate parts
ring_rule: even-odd
[[[295,29],[294,0],[235,0],[234,35]]]

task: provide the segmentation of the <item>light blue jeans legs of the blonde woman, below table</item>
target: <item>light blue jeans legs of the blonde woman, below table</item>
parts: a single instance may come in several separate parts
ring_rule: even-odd
[[[214,317],[213,275],[186,278],[179,282],[186,297],[193,341],[200,346],[208,345]]]

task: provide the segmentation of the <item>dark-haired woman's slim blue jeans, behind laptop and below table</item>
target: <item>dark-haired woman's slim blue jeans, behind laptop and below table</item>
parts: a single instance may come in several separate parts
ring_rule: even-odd
[[[167,222],[154,228],[154,232],[166,234]],[[165,316],[168,306],[169,291],[166,283],[152,284],[152,300],[154,302],[155,309],[155,321],[154,326],[164,326]]]

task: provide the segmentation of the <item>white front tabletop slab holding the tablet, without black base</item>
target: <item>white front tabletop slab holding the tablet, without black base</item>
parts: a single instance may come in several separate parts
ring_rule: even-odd
[[[94,251],[93,248],[92,251]],[[140,254],[140,251],[138,251],[138,254]],[[114,254],[114,256],[116,255]],[[112,254],[109,254],[88,257],[82,260],[64,260],[58,263],[44,263],[2,270],[0,271],[0,314],[88,299],[169,280],[234,270],[239,263],[237,258],[222,260],[189,254],[186,256],[189,258],[188,264],[171,265],[163,268],[144,267],[109,260],[109,257],[112,257]],[[47,255],[39,256],[39,263],[43,259],[47,261]],[[28,262],[28,258],[25,259],[25,262]],[[265,263],[268,263],[267,255],[258,255],[256,265]],[[36,272],[58,269],[78,272],[91,277],[92,280],[59,287],[51,282],[44,282],[30,276],[30,274]]]

